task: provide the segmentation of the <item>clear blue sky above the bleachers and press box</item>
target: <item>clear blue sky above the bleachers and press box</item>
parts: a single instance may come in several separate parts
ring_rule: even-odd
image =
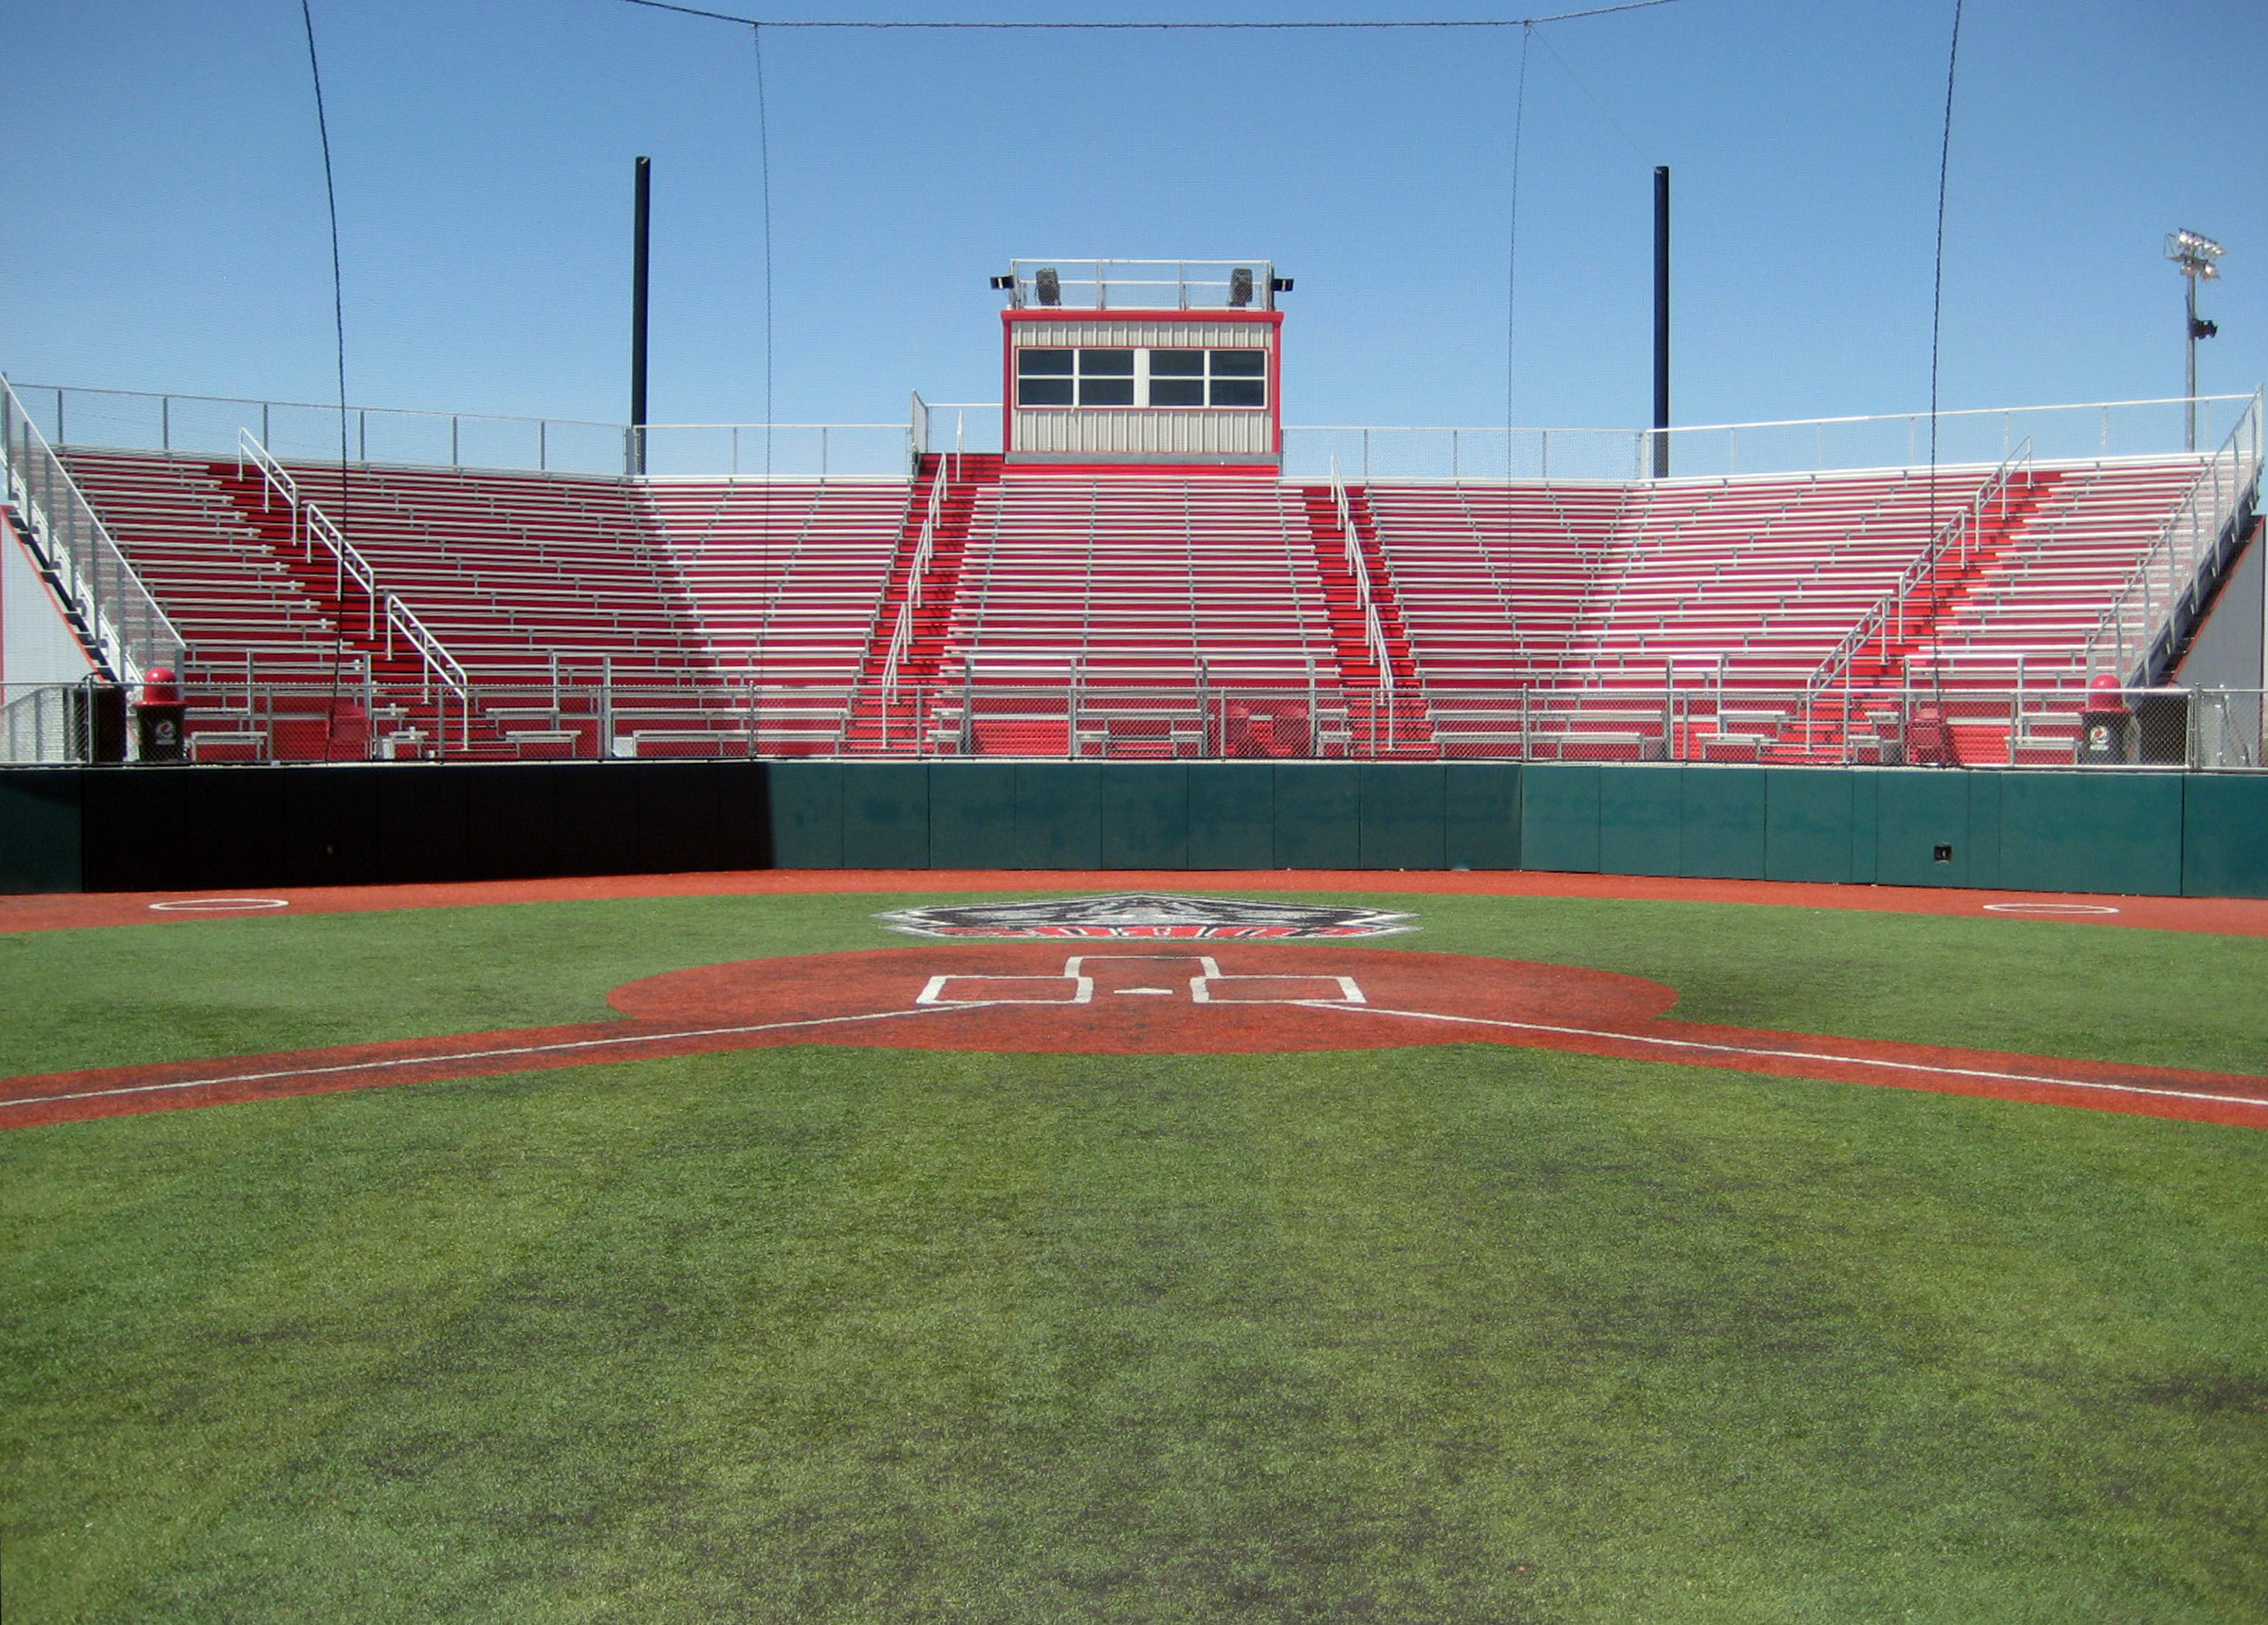
[[[721,5],[719,9],[769,9]],[[803,18],[1517,16],[1463,0],[794,0]],[[1642,424],[1651,166],[1676,418],[1928,404],[1950,0],[1681,0],[1538,30],[1513,415]],[[653,418],[762,415],[748,30],[619,0],[315,0],[361,404],[619,420],[631,159]],[[297,0],[0,0],[0,370],[329,399]],[[998,393],[1009,256],[1270,256],[1293,422],[1506,415],[1520,30],[767,30],[778,420]],[[1971,0],[1944,404],[2173,395],[2173,227],[2229,247],[2207,393],[2268,377],[2268,5]]]

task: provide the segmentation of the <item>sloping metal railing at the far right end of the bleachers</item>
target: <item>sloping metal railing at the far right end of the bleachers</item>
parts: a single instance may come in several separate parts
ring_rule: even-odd
[[[2118,683],[2157,676],[2150,667],[2173,654],[2170,640],[2182,631],[2182,615],[2202,608],[2198,595],[2211,586],[2218,549],[2239,540],[2234,524],[2245,504],[2259,499],[2259,477],[2261,397],[2254,393],[2236,427],[2198,470],[2182,506],[2102,611],[2087,638],[2082,670],[2107,672]]]

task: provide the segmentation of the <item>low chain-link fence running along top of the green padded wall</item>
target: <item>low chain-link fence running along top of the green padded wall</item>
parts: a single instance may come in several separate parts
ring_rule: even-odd
[[[129,690],[0,694],[0,760],[129,760]],[[1173,681],[1111,672],[955,672],[903,681],[875,726],[850,683],[558,681],[447,692],[363,672],[245,683],[191,672],[186,756],[293,760],[1030,758],[1030,760],[1529,760],[1789,767],[2229,769],[2268,765],[2261,690],[2087,692],[2073,683],[1944,681],[1803,715],[1801,688],[1710,672],[1649,688],[1445,688],[1415,694],[1325,681]],[[467,724],[469,710],[469,724]],[[864,726],[853,726],[864,719]]]

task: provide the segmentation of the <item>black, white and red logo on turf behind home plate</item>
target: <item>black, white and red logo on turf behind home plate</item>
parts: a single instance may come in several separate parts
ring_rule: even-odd
[[[1383,908],[1266,903],[1247,896],[1177,896],[1114,892],[1109,896],[1041,896],[1030,903],[955,903],[894,908],[875,915],[916,937],[1134,937],[1143,942],[1263,942],[1306,937],[1390,937],[1415,931],[1413,915]]]

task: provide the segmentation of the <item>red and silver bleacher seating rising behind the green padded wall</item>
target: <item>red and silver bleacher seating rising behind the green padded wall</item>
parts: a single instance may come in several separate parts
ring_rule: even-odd
[[[1833,670],[1826,715],[1846,633],[1989,470],[1340,490],[975,456],[914,479],[293,463],[374,599],[234,458],[66,461],[191,645],[200,756],[1848,758],[1916,667],[2075,692],[2198,468],[2016,474],[1907,590],[1901,638]],[[463,672],[456,699],[379,599]],[[2068,756],[2075,706],[2048,710],[1998,747]]]

